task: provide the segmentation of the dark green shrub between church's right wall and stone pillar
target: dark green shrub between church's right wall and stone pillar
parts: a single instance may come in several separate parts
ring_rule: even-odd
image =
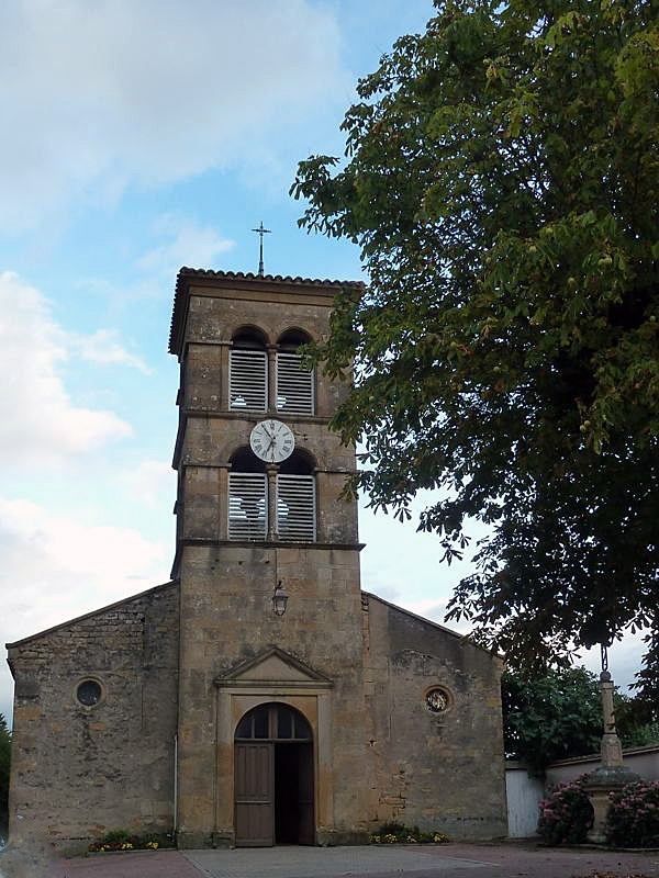
[[[555,759],[595,753],[602,736],[596,677],[582,667],[501,682],[505,755],[541,772]]]

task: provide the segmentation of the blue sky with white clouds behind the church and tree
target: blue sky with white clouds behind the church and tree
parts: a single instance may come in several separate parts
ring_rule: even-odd
[[[355,86],[431,0],[0,4],[0,641],[167,582],[186,264],[364,279],[298,228],[298,161],[340,155]],[[362,504],[364,506],[364,504]],[[442,620],[467,562],[361,510],[362,587]],[[611,664],[629,680],[634,640]],[[591,665],[593,660],[589,660]],[[12,679],[0,665],[0,712]]]

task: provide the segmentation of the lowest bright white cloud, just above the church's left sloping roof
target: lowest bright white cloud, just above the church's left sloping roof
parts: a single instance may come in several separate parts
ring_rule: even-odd
[[[81,524],[0,498],[0,643],[20,640],[168,579],[169,548],[131,528]],[[0,712],[12,683],[0,663]]]

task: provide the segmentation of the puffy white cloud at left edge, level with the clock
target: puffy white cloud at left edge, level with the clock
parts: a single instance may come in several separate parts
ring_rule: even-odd
[[[68,344],[38,290],[12,272],[1,273],[0,455],[12,465],[48,464],[131,434],[113,412],[71,402],[58,372]]]

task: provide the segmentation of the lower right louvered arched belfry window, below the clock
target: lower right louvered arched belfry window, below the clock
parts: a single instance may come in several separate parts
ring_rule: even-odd
[[[315,542],[316,493],[313,458],[295,449],[277,474],[277,533],[283,542]]]

